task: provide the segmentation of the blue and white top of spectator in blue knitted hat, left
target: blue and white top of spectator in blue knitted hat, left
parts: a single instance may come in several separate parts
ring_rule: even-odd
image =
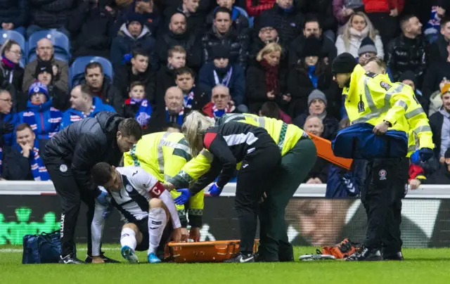
[[[45,103],[42,103],[41,105],[32,105],[30,101],[28,101],[27,110],[23,112],[23,122],[30,124],[31,128],[34,131],[34,134],[36,134],[38,139],[48,139],[53,136],[59,131],[61,120],[63,119],[62,113],[57,110],[56,108],[53,108],[52,101],[46,101]],[[37,129],[37,119],[41,119],[41,117],[44,117],[44,112],[50,111],[50,120],[47,123],[50,123],[50,125],[46,124],[46,121],[41,121],[42,129],[41,134],[39,134],[39,131]],[[37,116],[39,116],[37,118]]]

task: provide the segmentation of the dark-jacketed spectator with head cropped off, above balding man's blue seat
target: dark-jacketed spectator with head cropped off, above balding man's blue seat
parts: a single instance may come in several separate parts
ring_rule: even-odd
[[[75,0],[30,0],[30,26],[27,28],[27,38],[40,30],[57,29],[70,37],[65,30],[65,23],[70,18],[77,1]]]

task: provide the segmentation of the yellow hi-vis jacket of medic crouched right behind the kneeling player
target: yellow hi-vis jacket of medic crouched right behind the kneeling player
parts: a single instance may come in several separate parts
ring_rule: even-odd
[[[124,165],[134,165],[153,174],[158,181],[165,182],[175,176],[186,162],[191,160],[191,150],[181,133],[158,132],[142,136],[133,148],[124,153]],[[181,193],[170,191],[172,198]],[[189,223],[193,227],[201,227],[205,196],[203,191],[193,195],[189,200]],[[181,225],[187,226],[184,205],[176,205]]]

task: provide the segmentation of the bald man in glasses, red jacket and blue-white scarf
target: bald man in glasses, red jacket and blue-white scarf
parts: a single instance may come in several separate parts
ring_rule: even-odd
[[[236,112],[236,107],[231,102],[230,90],[219,84],[212,88],[211,101],[202,111],[208,117],[222,117],[226,113]]]

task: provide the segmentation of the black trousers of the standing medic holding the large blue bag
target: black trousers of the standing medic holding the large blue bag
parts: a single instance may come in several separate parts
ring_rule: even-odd
[[[367,214],[367,247],[383,248],[386,253],[401,250],[401,199],[407,191],[408,169],[406,157],[368,162],[361,192]]]

